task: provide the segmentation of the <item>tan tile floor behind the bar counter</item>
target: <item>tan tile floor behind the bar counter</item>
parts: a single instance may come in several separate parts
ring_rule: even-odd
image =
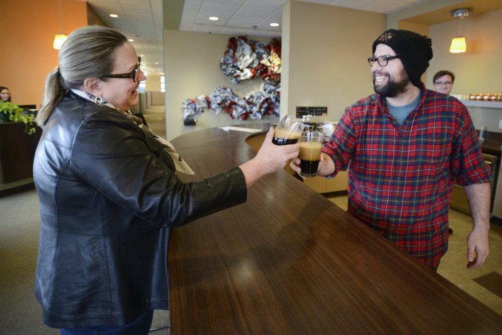
[[[327,194],[329,200],[340,208],[347,210],[346,194]],[[490,227],[490,254],[481,267],[467,270],[467,235],[472,229],[472,220],[469,215],[450,209],[450,228],[453,234],[449,238],[448,252],[441,259],[438,273],[448,279],[462,290],[481,301],[495,312],[502,315],[502,296],[497,295],[502,291],[502,225],[493,223]],[[488,286],[485,288],[474,281]],[[482,279],[485,279],[482,281]],[[494,293],[496,292],[496,293]]]

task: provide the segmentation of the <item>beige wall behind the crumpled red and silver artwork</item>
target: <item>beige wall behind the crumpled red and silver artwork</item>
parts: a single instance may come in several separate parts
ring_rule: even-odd
[[[220,71],[220,59],[223,57],[230,37],[233,35],[164,30],[166,129],[169,140],[195,130],[257,122],[250,119],[232,120],[223,112],[216,116],[214,110],[207,109],[196,116],[197,126],[183,125],[181,104],[185,98],[193,99],[197,95],[209,95],[216,86],[230,87],[234,93],[241,93],[244,96],[250,91],[259,90],[264,82],[258,78],[232,84]],[[266,43],[271,41],[270,38],[248,38]],[[276,117],[265,116],[258,122],[277,121]]]

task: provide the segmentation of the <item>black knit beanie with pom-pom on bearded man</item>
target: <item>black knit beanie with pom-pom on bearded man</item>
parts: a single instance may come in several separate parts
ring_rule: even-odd
[[[373,42],[373,55],[376,45],[385,44],[399,56],[413,85],[420,87],[420,77],[429,67],[432,59],[432,41],[408,30],[389,29]]]

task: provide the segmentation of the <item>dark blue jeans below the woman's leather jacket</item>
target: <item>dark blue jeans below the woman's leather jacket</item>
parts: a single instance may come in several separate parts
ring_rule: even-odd
[[[81,328],[61,328],[61,335],[141,335],[148,334],[154,311],[148,311],[136,320],[124,325],[98,325]]]

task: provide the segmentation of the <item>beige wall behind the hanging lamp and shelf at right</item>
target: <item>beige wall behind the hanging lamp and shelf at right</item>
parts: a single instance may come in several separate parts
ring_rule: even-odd
[[[502,43],[495,33],[502,32],[502,9],[463,19],[465,53],[449,53],[451,39],[458,35],[457,21],[432,25],[429,31],[434,57],[427,71],[427,87],[434,88],[432,78],[437,71],[449,70],[455,74],[452,94],[502,93]],[[485,126],[490,132],[502,133],[498,129],[502,109],[469,107],[469,112],[476,129]]]

